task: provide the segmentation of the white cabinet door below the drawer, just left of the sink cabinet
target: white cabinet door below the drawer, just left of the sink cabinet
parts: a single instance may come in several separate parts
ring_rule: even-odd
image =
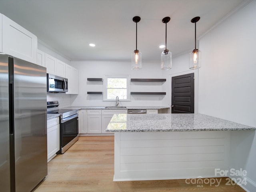
[[[101,115],[87,115],[87,132],[101,133]]]

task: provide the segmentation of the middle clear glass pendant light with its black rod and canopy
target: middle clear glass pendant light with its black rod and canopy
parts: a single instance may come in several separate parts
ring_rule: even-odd
[[[167,23],[170,21],[170,17],[165,17],[162,22],[165,23],[165,50],[161,54],[161,69],[169,70],[172,68],[172,52],[170,52],[166,47],[167,39]]]

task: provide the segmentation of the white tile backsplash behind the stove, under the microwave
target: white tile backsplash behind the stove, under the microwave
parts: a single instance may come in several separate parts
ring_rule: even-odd
[[[71,96],[66,93],[47,93],[47,101],[59,101],[59,107],[71,106]]]

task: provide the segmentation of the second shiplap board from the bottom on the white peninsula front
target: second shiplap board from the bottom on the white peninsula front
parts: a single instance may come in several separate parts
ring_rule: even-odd
[[[120,156],[120,163],[194,162],[224,160],[224,153]]]

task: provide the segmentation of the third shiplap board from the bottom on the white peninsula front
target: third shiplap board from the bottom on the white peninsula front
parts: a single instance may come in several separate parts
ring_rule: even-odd
[[[223,153],[223,146],[186,146],[186,147],[152,147],[152,148],[121,148],[120,155],[166,155],[166,154],[198,154]]]

